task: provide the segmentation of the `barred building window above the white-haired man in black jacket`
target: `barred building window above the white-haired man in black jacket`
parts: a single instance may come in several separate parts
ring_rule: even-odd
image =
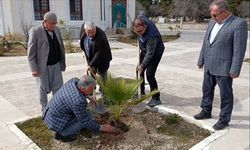
[[[70,20],[82,20],[82,0],[69,0]]]

